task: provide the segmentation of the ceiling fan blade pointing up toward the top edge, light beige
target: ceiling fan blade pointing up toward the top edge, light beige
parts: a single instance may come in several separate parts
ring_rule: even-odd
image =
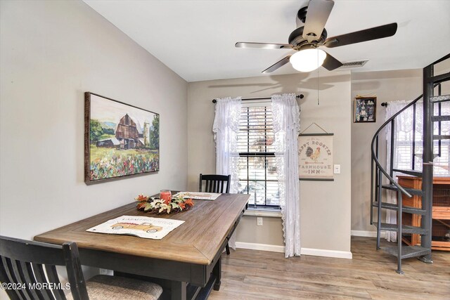
[[[333,0],[309,1],[303,30],[303,38],[307,39],[309,43],[320,39],[334,5]]]

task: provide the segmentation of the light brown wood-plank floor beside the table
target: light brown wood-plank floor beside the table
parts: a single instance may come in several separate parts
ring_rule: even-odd
[[[387,242],[383,242],[388,244]],[[375,238],[352,237],[353,259],[246,249],[222,255],[218,299],[450,299],[450,252],[433,251],[434,263],[403,261],[375,250]]]

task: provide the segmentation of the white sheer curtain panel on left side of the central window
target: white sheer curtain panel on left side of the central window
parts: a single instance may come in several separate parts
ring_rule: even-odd
[[[230,193],[238,193],[238,131],[241,98],[217,99],[216,112],[212,131],[216,143],[216,174],[231,174]],[[229,246],[236,249],[236,233],[230,240]]]

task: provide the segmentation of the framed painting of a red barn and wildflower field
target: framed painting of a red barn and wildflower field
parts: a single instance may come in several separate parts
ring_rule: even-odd
[[[160,170],[160,115],[84,93],[84,182]]]

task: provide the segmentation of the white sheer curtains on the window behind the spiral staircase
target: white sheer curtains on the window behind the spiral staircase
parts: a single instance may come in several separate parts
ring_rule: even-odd
[[[411,101],[398,100],[388,103],[386,108],[385,120],[390,119],[395,113],[399,112]],[[435,105],[435,115],[438,115],[438,105]],[[450,115],[450,103],[442,103],[441,115]],[[422,170],[422,157],[423,153],[423,102],[420,100],[416,104],[416,149],[413,149],[413,107],[409,107],[404,112],[394,119],[394,169],[411,169],[413,155],[415,156],[414,169]],[[441,123],[441,134],[450,134],[449,122]],[[438,134],[438,124],[434,125],[435,134]],[[386,170],[390,171],[390,138],[391,138],[391,126],[386,127],[386,143],[387,143],[387,155],[386,155]],[[437,153],[438,146],[435,141],[434,151]],[[441,157],[434,159],[435,166],[433,172],[435,176],[450,176],[450,162],[449,162],[449,140],[443,140],[441,146]],[[394,172],[393,178],[397,180],[397,174]],[[387,191],[387,202],[397,203],[397,192]],[[397,223],[397,211],[387,210],[386,223]],[[390,242],[397,241],[397,233],[386,232],[386,240]]]

